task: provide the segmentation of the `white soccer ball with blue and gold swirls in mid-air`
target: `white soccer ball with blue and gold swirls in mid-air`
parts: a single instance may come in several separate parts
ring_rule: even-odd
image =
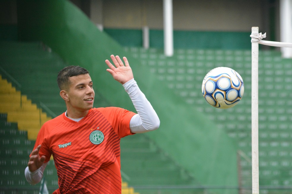
[[[220,109],[231,108],[243,96],[242,77],[229,67],[217,67],[204,77],[202,93],[210,105]]]

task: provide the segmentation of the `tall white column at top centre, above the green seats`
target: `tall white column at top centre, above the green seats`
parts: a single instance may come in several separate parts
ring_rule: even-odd
[[[173,55],[172,0],[163,0],[164,54]]]

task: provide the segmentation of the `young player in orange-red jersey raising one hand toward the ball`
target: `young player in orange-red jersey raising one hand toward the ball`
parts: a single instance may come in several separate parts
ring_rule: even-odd
[[[57,193],[120,194],[120,138],[155,130],[160,121],[140,91],[126,57],[111,55],[107,71],[123,84],[138,114],[118,107],[93,108],[94,90],[88,71],[69,66],[58,74],[60,96],[67,111],[40,129],[25,170],[26,180],[38,183],[53,155]]]

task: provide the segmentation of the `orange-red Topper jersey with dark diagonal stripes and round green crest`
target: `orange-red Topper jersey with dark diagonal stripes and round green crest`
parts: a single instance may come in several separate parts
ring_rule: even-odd
[[[121,193],[120,138],[132,135],[134,112],[108,107],[93,108],[79,122],[65,113],[46,122],[34,149],[53,155],[59,189],[54,193]]]

